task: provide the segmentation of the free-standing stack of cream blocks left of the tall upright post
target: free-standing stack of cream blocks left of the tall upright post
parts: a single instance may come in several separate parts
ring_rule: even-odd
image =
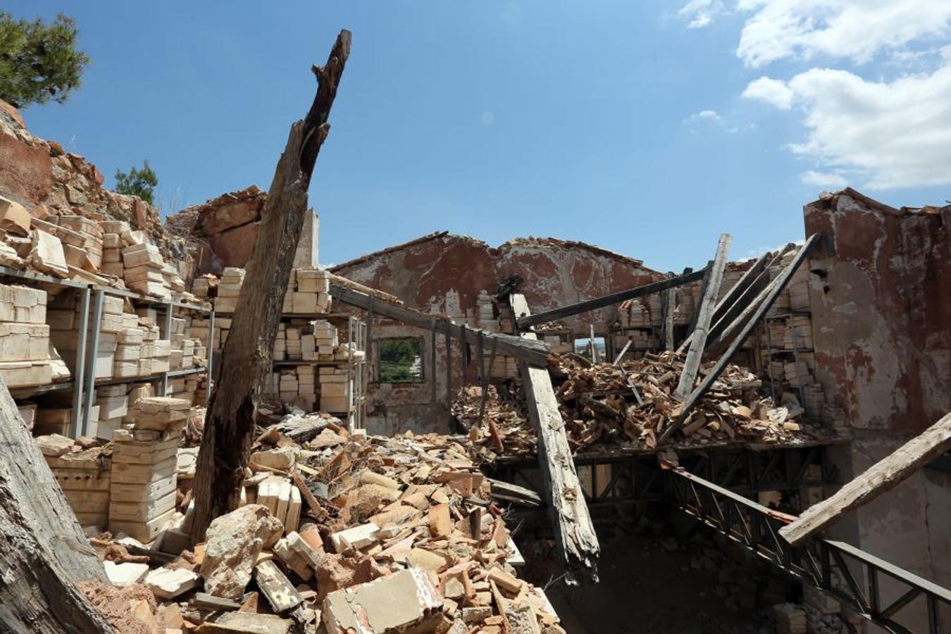
[[[191,402],[166,396],[139,398],[130,429],[112,434],[109,530],[151,542],[175,513],[176,468]]]

